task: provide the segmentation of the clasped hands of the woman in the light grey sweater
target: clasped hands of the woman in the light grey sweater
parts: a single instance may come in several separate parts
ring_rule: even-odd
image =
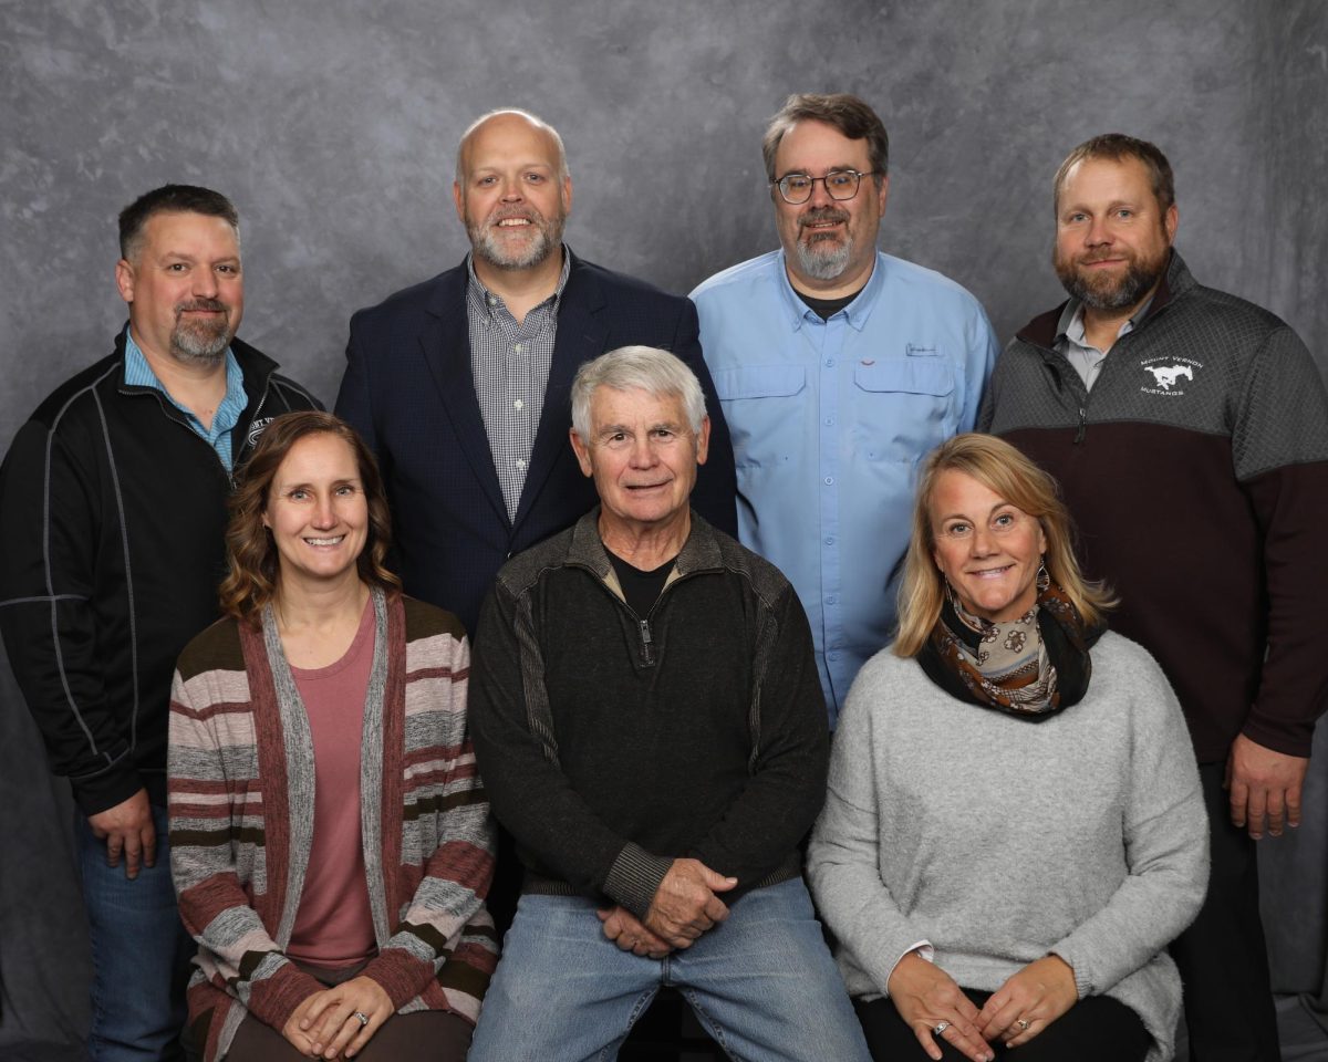
[[[890,998],[930,1058],[940,1058],[935,1029],[972,1062],[991,1062],[993,1041],[1027,1043],[1078,1002],[1074,970],[1049,954],[1012,973],[979,1010],[940,966],[906,954],[890,974]]]

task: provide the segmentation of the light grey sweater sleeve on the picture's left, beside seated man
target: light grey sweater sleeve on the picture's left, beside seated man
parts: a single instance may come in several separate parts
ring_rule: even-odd
[[[882,994],[899,957],[923,936],[880,877],[874,763],[884,739],[878,708],[887,702],[894,666],[896,661],[878,656],[849,690],[830,751],[825,807],[807,848],[807,880],[821,916]]]

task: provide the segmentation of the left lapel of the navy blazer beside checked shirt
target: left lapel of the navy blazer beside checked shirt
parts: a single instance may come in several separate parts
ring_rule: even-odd
[[[489,433],[475,397],[475,380],[470,372],[470,319],[466,316],[469,273],[462,264],[441,279],[429,304],[429,321],[420,331],[420,350],[429,364],[442,406],[452,421],[453,434],[475,481],[483,487],[485,496],[499,519],[510,527],[507,504],[503,502],[493,451],[489,449]]]

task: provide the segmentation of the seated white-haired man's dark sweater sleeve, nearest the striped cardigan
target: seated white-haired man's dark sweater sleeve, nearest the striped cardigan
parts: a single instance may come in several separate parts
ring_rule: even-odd
[[[499,577],[475,633],[470,725],[494,814],[542,866],[579,892],[606,895],[622,856],[616,879],[633,887],[631,895],[615,889],[620,895],[614,899],[643,916],[672,860],[608,828],[559,769],[529,609],[529,597],[519,600]]]

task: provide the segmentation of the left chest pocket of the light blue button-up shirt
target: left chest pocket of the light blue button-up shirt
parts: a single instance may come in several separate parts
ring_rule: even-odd
[[[724,406],[740,469],[774,469],[805,445],[802,413],[809,392],[801,365],[740,365],[710,372]]]

